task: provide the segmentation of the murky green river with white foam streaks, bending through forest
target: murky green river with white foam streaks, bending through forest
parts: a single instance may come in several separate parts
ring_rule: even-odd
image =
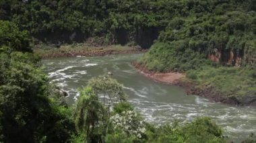
[[[130,62],[141,54],[119,54],[79,58],[51,58],[42,60],[52,83],[69,93],[66,98],[73,105],[79,97],[77,88],[86,86],[88,79],[111,71],[111,77],[123,84],[132,103],[148,122],[188,122],[195,117],[211,117],[222,126],[225,135],[235,142],[256,132],[256,109],[214,103],[195,95],[186,95],[181,87],[164,85],[136,72]]]

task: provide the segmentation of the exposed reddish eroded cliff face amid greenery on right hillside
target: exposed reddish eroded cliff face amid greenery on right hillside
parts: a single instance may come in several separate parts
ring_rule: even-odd
[[[208,59],[230,66],[250,64],[256,66],[256,51],[243,50],[218,50],[214,49],[207,56]]]

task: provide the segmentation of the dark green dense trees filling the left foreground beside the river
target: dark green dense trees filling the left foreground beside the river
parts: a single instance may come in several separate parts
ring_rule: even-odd
[[[65,142],[71,110],[57,103],[32,54],[0,54],[0,142]],[[51,94],[50,94],[51,93]]]

